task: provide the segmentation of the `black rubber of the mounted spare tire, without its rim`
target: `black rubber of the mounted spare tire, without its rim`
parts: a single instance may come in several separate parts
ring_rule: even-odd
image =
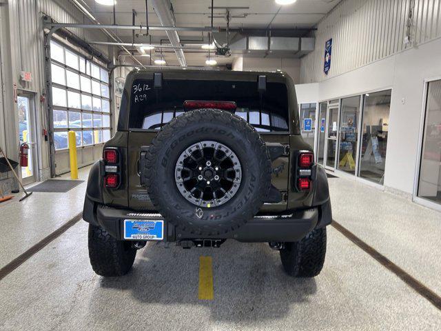
[[[227,146],[242,167],[236,194],[214,208],[187,201],[175,182],[178,157],[200,141]],[[146,177],[149,197],[167,222],[185,233],[219,236],[257,214],[271,187],[271,159],[258,132],[244,119],[223,110],[192,110],[172,119],[156,135],[147,152]],[[202,217],[196,214],[198,208],[203,211]]]

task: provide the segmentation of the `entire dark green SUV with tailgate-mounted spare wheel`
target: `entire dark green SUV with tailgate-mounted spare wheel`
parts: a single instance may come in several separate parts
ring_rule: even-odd
[[[92,268],[127,273],[147,241],[267,242],[287,274],[325,261],[325,170],[300,135],[284,72],[150,68],[127,76],[118,128],[90,171]]]

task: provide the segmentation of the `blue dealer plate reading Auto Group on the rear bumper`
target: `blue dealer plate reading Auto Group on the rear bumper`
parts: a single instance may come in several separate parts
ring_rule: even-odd
[[[123,221],[125,240],[164,240],[162,219],[125,219]]]

